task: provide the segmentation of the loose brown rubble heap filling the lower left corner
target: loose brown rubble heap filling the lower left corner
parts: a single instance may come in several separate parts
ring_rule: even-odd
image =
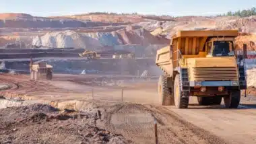
[[[0,110],[0,143],[128,143],[95,125],[95,115],[33,104]]]

